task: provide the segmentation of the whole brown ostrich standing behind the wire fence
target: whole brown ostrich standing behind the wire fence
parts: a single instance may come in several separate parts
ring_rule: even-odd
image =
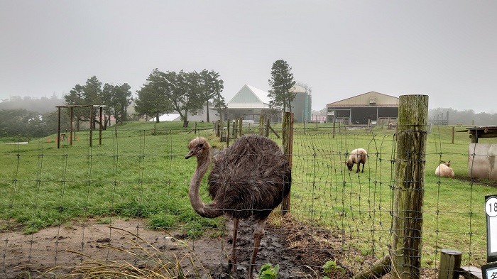
[[[205,138],[198,137],[190,141],[188,148],[190,151],[185,159],[197,156],[197,170],[189,190],[193,209],[202,217],[226,214],[234,219],[233,248],[229,257],[231,273],[236,271],[239,219],[252,217],[256,222],[249,268],[252,277],[266,219],[290,192],[292,177],[288,160],[278,145],[266,137],[247,135],[238,138],[214,159],[207,187],[212,202],[204,204],[199,197],[199,187],[211,162],[210,146]]]

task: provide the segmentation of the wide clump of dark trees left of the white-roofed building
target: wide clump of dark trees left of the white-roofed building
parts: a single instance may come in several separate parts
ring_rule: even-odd
[[[183,126],[188,126],[188,114],[207,111],[209,121],[209,104],[212,104],[219,115],[226,109],[223,80],[214,71],[202,72],[162,72],[158,69],[152,71],[147,82],[136,94],[135,111],[140,115],[155,116],[159,121],[161,114],[178,112],[183,121]]]

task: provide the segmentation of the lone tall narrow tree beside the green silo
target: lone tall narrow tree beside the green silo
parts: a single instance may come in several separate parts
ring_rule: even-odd
[[[271,79],[268,80],[271,90],[268,97],[271,98],[269,103],[272,107],[283,107],[283,111],[287,108],[292,112],[291,102],[295,99],[295,94],[291,91],[295,85],[293,80],[292,68],[285,60],[276,60],[271,67]]]

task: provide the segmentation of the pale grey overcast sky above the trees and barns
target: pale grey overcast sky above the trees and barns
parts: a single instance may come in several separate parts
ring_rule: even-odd
[[[283,59],[312,109],[370,91],[497,113],[497,1],[0,0],[0,99],[153,69],[214,70],[228,102]]]

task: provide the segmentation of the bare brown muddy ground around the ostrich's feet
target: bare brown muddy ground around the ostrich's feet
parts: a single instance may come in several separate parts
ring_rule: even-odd
[[[145,265],[144,261],[126,251],[163,253],[163,261],[168,261],[164,259],[168,258],[175,263],[178,259],[182,269],[192,277],[195,273],[202,278],[209,278],[209,275],[210,278],[247,276],[253,246],[251,221],[240,222],[236,251],[239,263],[234,275],[228,274],[227,265],[232,245],[229,220],[222,236],[213,237],[206,233],[200,239],[187,239],[186,234],[179,231],[146,229],[143,219],[112,219],[111,226],[119,229],[87,219],[42,229],[31,235],[24,235],[20,230],[4,231],[0,233],[0,278],[34,278],[41,274],[58,278],[74,274],[92,258],[126,261],[138,267]],[[272,263],[280,265],[281,278],[322,278],[322,275],[317,276],[321,266],[330,259],[337,260],[334,251],[339,250],[337,246],[342,240],[327,232],[306,229],[287,214],[283,219],[268,222],[254,273],[264,263]],[[133,249],[131,244],[141,248]],[[197,271],[190,261],[194,262]],[[337,271],[332,278],[350,276],[350,271],[346,270],[345,274]]]

